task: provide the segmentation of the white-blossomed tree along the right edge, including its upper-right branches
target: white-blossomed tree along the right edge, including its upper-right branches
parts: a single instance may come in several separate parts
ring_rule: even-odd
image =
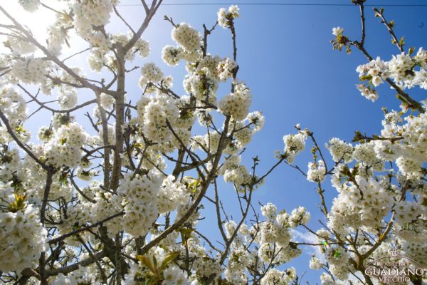
[[[347,53],[357,48],[369,60],[357,67],[362,82],[357,89],[365,98],[375,101],[379,97],[376,87],[384,83],[391,86],[401,105],[400,110],[383,108],[383,129],[378,135],[356,131],[353,144],[332,138],[325,145],[334,161],[329,167],[314,136],[306,131],[314,146],[313,162],[304,175],[317,184],[326,221],[317,232],[308,229],[319,240],[322,252],[322,259],[312,257],[310,268],[325,270],[322,284],[347,284],[349,279],[376,284],[379,279],[371,276],[367,266],[393,249],[411,260],[410,267],[423,269],[406,274],[403,281],[422,284],[427,266],[427,172],[423,167],[427,160],[427,100],[418,102],[407,90],[427,89],[427,51],[422,47],[416,53],[416,48],[405,51],[404,37],[398,39],[394,33],[395,22],[385,18],[384,9],[374,8],[374,16],[381,19],[399,49],[389,61],[374,59],[364,45],[365,0],[352,2],[359,6],[361,39],[352,41],[343,28],[333,28],[333,48],[345,48]],[[323,196],[327,176],[338,192],[331,207]]]

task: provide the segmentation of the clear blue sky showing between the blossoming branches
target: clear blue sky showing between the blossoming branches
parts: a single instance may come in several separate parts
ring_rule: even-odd
[[[7,0],[9,2],[9,0]],[[46,1],[48,2],[48,1]],[[165,0],[165,4],[173,3],[207,3],[228,1],[205,0]],[[243,1],[240,1],[243,3]],[[267,1],[246,0],[245,3],[263,3]],[[350,4],[347,0],[307,0],[307,1],[268,1],[269,3],[327,3]],[[6,0],[1,0],[1,4]],[[144,12],[142,6],[125,6],[139,4],[139,0],[122,0],[119,11],[125,15],[133,26],[142,21]],[[239,1],[233,2],[239,4]],[[367,1],[367,4],[427,4],[421,0],[389,0]],[[6,4],[6,8],[9,4]],[[162,67],[164,73],[174,76],[174,90],[184,94],[181,81],[184,76],[184,64],[177,68],[169,68],[162,63],[161,49],[166,44],[174,44],[170,38],[172,26],[164,21],[163,15],[172,16],[176,23],[185,21],[202,31],[202,24],[211,26],[216,21],[216,11],[225,4],[204,6],[161,6],[152,23],[144,33],[144,38],[150,41],[152,53],[149,61],[154,61]],[[380,6],[380,5],[379,5]],[[246,81],[253,93],[251,110],[260,110],[265,115],[263,130],[254,136],[243,160],[251,163],[251,157],[260,157],[261,172],[275,163],[274,150],[283,150],[283,135],[295,133],[293,126],[300,123],[302,128],[309,128],[315,133],[317,142],[324,145],[330,138],[337,137],[350,141],[354,130],[366,131],[367,134],[379,133],[381,130],[381,107],[397,109],[398,100],[393,90],[382,86],[379,88],[380,98],[376,103],[365,99],[355,88],[358,76],[355,71],[359,64],[367,60],[357,50],[351,55],[345,52],[332,51],[330,40],[332,28],[341,26],[350,39],[360,38],[359,9],[356,6],[267,6],[267,5],[239,5],[241,18],[236,20],[238,64],[240,70],[238,78]],[[11,5],[11,8],[12,5]],[[387,19],[396,21],[396,34],[405,36],[406,50],[410,46],[418,49],[427,46],[427,6],[388,6],[385,7]],[[46,12],[48,13],[48,12]],[[374,18],[371,7],[366,9],[367,38],[366,48],[372,56],[380,56],[385,60],[391,54],[399,51],[391,45],[391,38],[386,28]],[[43,18],[44,19],[44,18]],[[32,20],[34,26],[43,22],[43,19]],[[109,31],[121,30],[117,23],[112,22]],[[232,56],[232,47],[229,32],[221,27],[216,28],[209,38],[209,52],[219,56]],[[85,63],[75,62],[75,64]],[[142,65],[143,62],[135,62]],[[141,94],[137,86],[139,73],[130,76],[127,81],[128,98],[135,102]],[[225,94],[225,93],[224,93]],[[221,98],[224,94],[218,94]],[[421,90],[410,90],[410,94],[417,100],[421,97]],[[39,117],[39,119],[42,119]],[[38,120],[28,122],[27,128],[36,128]],[[296,164],[302,170],[307,170],[307,162],[311,160],[310,147],[300,157]],[[247,164],[247,165],[248,165]],[[267,182],[254,194],[254,201],[265,204],[273,202],[278,209],[288,211],[301,205],[307,207],[312,214],[310,227],[320,228],[317,220],[320,211],[317,209],[317,192],[315,184],[307,182],[296,170],[281,165]],[[337,192],[325,182],[325,195],[330,204]],[[208,193],[209,195],[210,193]],[[225,207],[229,212],[236,211],[236,195],[231,187],[220,190]],[[205,204],[209,208],[209,205]],[[211,212],[214,214],[214,212]],[[209,214],[208,214],[209,215]],[[212,231],[209,217],[201,222],[201,232]],[[307,253],[308,252],[308,253]],[[305,274],[304,282],[315,284],[318,281],[319,271],[308,268],[308,261],[312,249],[308,249],[297,259],[288,264],[295,266],[298,274]],[[287,266],[288,266],[287,265]]]

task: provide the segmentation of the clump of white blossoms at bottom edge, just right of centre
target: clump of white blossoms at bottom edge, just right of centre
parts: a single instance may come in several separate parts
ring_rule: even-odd
[[[268,203],[261,207],[261,212],[266,218],[265,221],[254,224],[251,228],[242,224],[240,229],[237,229],[237,224],[233,221],[225,225],[228,237],[238,231],[225,270],[228,282],[246,284],[248,280],[244,271],[247,268],[253,268],[261,261],[280,266],[300,254],[300,249],[292,242],[290,230],[307,224],[310,219],[307,210],[300,207],[292,210],[290,214],[284,211],[278,214],[277,207]],[[253,242],[258,244],[258,250],[247,252],[245,249]],[[260,284],[292,284],[296,277],[294,268],[284,271],[270,269],[260,279]]]

